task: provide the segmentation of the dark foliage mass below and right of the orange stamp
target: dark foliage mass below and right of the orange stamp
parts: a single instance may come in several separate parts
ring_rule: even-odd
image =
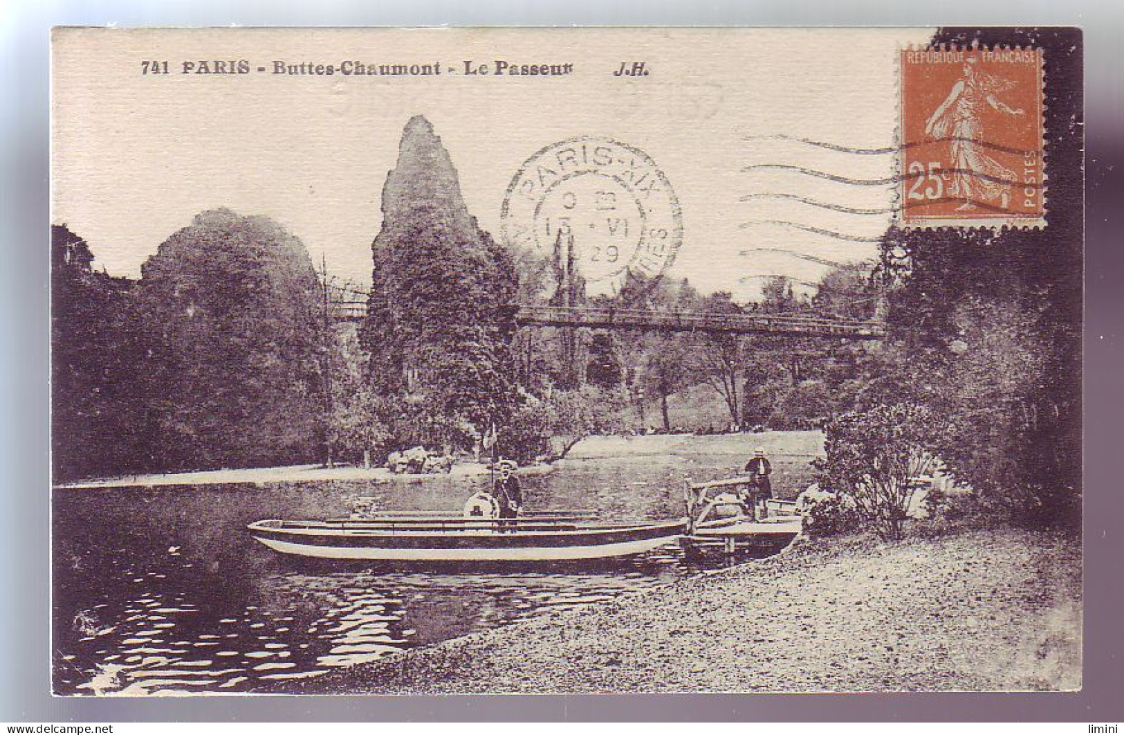
[[[968,481],[1027,520],[1075,521],[1081,472],[1081,45],[1079,31],[946,29],[939,42],[1045,49],[1046,227],[891,229],[889,351],[876,390],[954,419],[941,447]],[[895,359],[896,357],[896,359]],[[899,398],[900,399],[900,398]]]

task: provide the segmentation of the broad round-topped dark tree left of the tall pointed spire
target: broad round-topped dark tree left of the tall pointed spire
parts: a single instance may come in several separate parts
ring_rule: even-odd
[[[142,267],[138,383],[163,469],[307,462],[325,443],[323,315],[299,239],[198,215]]]

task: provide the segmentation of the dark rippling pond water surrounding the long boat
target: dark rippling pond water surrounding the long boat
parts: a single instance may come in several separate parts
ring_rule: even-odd
[[[679,517],[686,481],[727,477],[759,445],[773,463],[774,493],[792,498],[822,446],[816,433],[599,438],[553,471],[523,478],[525,506],[589,509],[607,520]],[[669,546],[589,568],[389,571],[285,557],[245,530],[261,518],[346,516],[360,497],[386,509],[459,514],[487,482],[56,489],[54,690],[284,691],[285,681],[698,569]]]

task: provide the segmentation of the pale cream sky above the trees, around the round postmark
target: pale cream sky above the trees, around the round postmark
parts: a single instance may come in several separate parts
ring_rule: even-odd
[[[776,136],[892,146],[897,51],[932,29],[199,29],[56,30],[52,221],[84,237],[96,266],[139,275],[200,211],[266,215],[332,275],[363,284],[380,197],[402,128],[425,116],[456,166],[469,211],[500,236],[513,178],[577,136],[643,151],[678,198],[683,237],[669,276],[756,296],[763,276],[815,281],[865,242],[892,187],[840,184],[769,166],[892,175],[892,155]],[[182,62],[438,63],[441,76],[182,74]],[[466,76],[464,61],[572,63],[560,78]],[[170,74],[142,74],[167,61]],[[615,76],[643,61],[649,75]],[[457,73],[448,73],[448,69]],[[765,167],[755,167],[764,164]],[[832,230],[839,238],[814,232]]]

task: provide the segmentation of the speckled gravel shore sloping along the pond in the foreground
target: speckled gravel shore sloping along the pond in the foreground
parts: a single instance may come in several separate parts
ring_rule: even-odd
[[[307,682],[323,693],[1075,690],[1080,539],[966,530],[782,554]]]

